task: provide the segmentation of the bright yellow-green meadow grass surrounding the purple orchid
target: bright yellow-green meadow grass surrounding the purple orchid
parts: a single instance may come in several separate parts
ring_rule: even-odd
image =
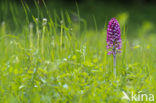
[[[117,55],[114,80],[113,57],[106,50],[108,21],[103,22],[105,29],[98,30],[93,17],[95,28],[88,29],[79,11],[74,21],[68,11],[51,14],[47,7],[40,11],[36,5],[38,16],[34,16],[26,4],[19,9],[10,3],[12,14],[8,14],[8,4],[4,5],[0,27],[1,103],[128,103],[121,99],[123,91],[128,95],[132,91],[156,94],[156,36],[149,34],[153,27],[149,22],[138,30],[139,38],[128,39],[127,14],[118,14],[123,47]],[[43,25],[44,17],[47,23]]]

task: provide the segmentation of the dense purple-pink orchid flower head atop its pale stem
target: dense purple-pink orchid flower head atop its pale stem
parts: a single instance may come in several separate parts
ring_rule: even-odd
[[[121,52],[121,32],[120,25],[115,18],[109,21],[107,28],[107,49],[108,55]]]

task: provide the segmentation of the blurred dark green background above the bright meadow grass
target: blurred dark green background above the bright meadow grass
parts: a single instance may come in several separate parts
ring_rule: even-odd
[[[45,13],[43,16],[46,17],[47,12],[42,0],[36,1],[40,5],[40,10]],[[13,30],[17,29],[14,25],[21,27],[24,22],[22,18],[25,16],[21,0],[0,0],[0,2],[0,21],[10,21],[9,24],[13,25]],[[34,1],[23,0],[23,2],[29,5],[30,20],[32,20],[31,14],[37,17]],[[110,18],[116,17],[121,19],[120,25],[123,24],[126,27],[129,37],[136,37],[136,34],[142,33],[144,28],[146,28],[144,29],[146,35],[156,32],[154,29],[156,25],[155,0],[45,0],[45,3],[51,14],[60,16],[60,11],[68,11],[73,21],[85,21],[90,29],[104,29]],[[78,13],[80,18],[78,18]],[[54,17],[54,15],[51,16]]]

